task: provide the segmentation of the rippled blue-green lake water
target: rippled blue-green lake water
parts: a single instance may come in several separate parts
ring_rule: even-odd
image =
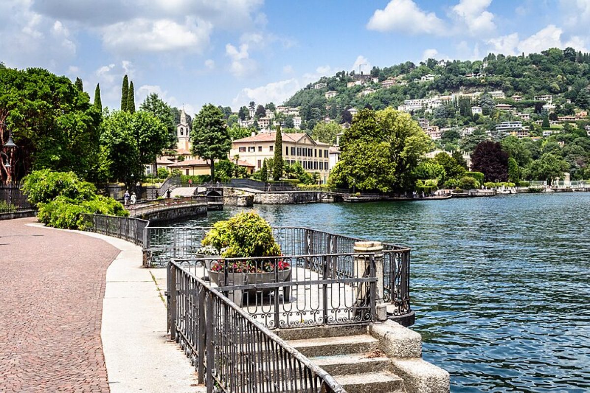
[[[255,210],[277,226],[412,247],[412,329],[451,391],[590,391],[590,193]]]

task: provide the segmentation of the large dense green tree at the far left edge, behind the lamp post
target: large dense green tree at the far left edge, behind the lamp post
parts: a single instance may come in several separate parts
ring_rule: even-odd
[[[18,145],[17,176],[51,168],[94,178],[100,111],[66,77],[41,68],[0,69],[0,119]]]

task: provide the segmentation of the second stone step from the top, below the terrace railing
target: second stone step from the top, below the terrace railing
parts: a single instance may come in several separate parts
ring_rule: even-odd
[[[346,355],[378,349],[379,340],[369,335],[289,340],[289,345],[307,357]]]

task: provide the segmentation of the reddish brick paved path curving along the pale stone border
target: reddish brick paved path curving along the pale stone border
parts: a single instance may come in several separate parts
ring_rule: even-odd
[[[0,221],[0,392],[109,392],[100,322],[119,250],[35,221]]]

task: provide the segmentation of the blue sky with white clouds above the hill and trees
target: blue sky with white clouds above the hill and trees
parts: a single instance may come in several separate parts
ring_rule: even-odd
[[[81,77],[117,107],[281,103],[323,75],[428,57],[590,48],[590,0],[2,0],[0,61]]]

